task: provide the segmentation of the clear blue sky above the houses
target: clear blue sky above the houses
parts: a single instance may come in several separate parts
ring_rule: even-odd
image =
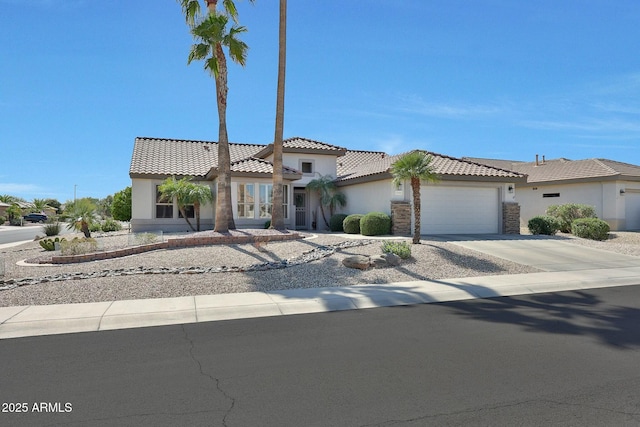
[[[274,135],[277,0],[237,0],[230,140]],[[637,0],[290,0],[285,137],[640,164]],[[173,0],[0,0],[0,194],[102,198],[136,136],[215,140]]]

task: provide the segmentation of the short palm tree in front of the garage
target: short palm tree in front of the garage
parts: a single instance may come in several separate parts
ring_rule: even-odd
[[[433,170],[433,157],[424,151],[412,151],[391,165],[393,183],[400,185],[410,181],[413,194],[413,243],[420,244],[420,182],[437,182]]]

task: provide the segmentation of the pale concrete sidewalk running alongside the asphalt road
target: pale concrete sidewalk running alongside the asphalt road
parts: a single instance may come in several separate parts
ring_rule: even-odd
[[[640,285],[640,266],[272,292],[0,307],[0,339]]]

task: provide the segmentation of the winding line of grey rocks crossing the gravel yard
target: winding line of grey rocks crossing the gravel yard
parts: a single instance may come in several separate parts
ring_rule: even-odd
[[[264,238],[265,236],[260,236]],[[176,239],[177,240],[177,239]],[[264,240],[261,240],[264,241]],[[15,289],[21,286],[36,285],[39,283],[59,282],[62,280],[82,280],[98,277],[118,277],[140,274],[205,274],[205,273],[240,273],[250,271],[277,270],[306,264],[333,255],[344,248],[354,248],[374,243],[375,240],[352,240],[333,245],[318,246],[317,248],[303,252],[302,255],[282,261],[262,262],[244,267],[136,267],[119,268],[115,270],[102,270],[91,273],[61,273],[44,277],[23,277],[21,279],[0,280],[0,291]],[[251,243],[251,242],[247,242]]]

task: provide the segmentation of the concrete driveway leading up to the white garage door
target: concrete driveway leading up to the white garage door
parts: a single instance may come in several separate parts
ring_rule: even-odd
[[[429,238],[448,241],[543,271],[640,267],[640,257],[580,246],[561,237],[452,234]]]

